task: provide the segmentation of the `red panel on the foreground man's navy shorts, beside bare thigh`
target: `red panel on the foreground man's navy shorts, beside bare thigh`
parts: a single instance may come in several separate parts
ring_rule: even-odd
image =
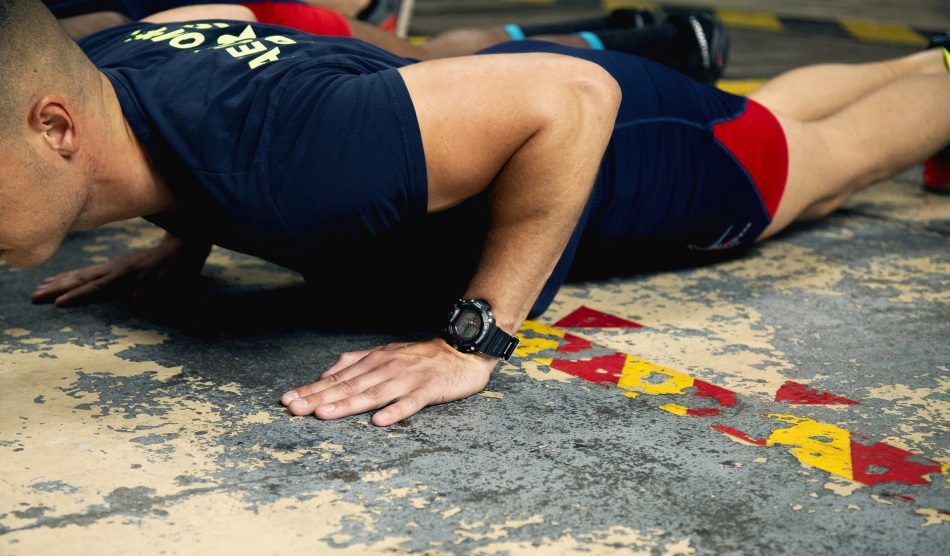
[[[716,124],[713,134],[752,176],[765,209],[774,217],[788,179],[788,144],[778,120],[750,99],[741,116]]]

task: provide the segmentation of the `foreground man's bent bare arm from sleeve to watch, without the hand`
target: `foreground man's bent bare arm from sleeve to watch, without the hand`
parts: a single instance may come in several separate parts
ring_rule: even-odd
[[[619,86],[595,64],[551,54],[437,60],[400,72],[422,132],[429,211],[490,189],[491,226],[466,297],[486,299],[499,325],[516,330],[583,210]]]

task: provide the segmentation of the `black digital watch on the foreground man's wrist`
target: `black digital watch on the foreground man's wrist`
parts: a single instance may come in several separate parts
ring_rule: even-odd
[[[462,353],[479,352],[505,361],[518,347],[518,337],[495,324],[495,315],[484,299],[459,299],[449,311],[445,340]]]

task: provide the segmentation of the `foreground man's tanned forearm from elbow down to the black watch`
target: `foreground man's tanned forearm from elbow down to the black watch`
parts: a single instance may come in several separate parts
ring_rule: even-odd
[[[491,225],[465,293],[486,299],[513,333],[574,231],[610,139],[619,92],[578,80],[546,99],[540,127],[495,178]]]

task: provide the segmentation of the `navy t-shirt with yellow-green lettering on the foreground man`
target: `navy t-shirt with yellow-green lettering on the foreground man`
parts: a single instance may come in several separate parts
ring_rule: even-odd
[[[296,270],[354,311],[395,298],[440,320],[464,292],[487,201],[427,217],[422,139],[397,72],[413,60],[227,21],[131,23],[80,46],[175,198],[152,222]]]

